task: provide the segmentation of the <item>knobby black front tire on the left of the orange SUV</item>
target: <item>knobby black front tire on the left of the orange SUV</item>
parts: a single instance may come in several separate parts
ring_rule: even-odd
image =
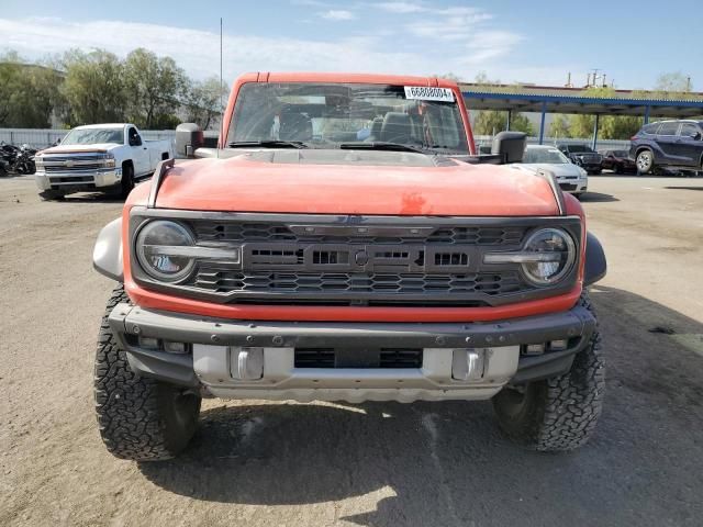
[[[122,285],[115,288],[108,302],[98,336],[94,394],[100,435],[116,458],[170,459],[193,436],[201,399],[132,371],[108,323],[110,312],[120,302],[129,302]]]

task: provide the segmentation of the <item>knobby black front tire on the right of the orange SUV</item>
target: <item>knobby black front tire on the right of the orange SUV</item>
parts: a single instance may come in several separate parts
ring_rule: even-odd
[[[588,294],[579,303],[593,312]],[[567,451],[584,445],[598,423],[605,363],[598,328],[563,375],[503,389],[493,397],[501,428],[533,450]]]

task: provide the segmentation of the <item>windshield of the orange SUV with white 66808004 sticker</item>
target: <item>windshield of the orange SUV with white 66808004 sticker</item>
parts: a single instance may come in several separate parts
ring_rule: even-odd
[[[389,85],[246,83],[227,145],[261,141],[302,142],[309,148],[386,142],[436,154],[469,153],[451,90]]]

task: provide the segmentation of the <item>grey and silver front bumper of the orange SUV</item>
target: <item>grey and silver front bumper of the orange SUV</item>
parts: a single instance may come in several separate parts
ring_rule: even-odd
[[[119,304],[110,326],[140,374],[225,399],[400,401],[489,399],[509,382],[562,374],[595,329],[581,306],[498,323],[294,323],[204,318]],[[155,339],[158,345],[154,346]],[[526,356],[525,346],[566,341]],[[149,344],[149,348],[144,343]],[[185,343],[185,354],[164,343]],[[416,368],[295,366],[297,350],[332,349],[347,357],[378,349],[421,349]],[[257,350],[260,378],[237,375],[242,350]],[[480,356],[480,370],[457,378],[457,357]],[[241,365],[239,365],[241,367]],[[478,373],[478,374],[477,374]]]

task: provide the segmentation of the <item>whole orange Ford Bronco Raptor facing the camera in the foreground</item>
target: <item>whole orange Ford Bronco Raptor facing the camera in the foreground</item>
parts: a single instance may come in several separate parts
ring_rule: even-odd
[[[605,258],[551,175],[506,165],[523,134],[476,155],[447,80],[249,74],[216,146],[180,125],[197,159],[161,161],[96,244],[118,282],[94,379],[114,456],[177,455],[212,396],[492,399],[533,449],[588,440]]]

